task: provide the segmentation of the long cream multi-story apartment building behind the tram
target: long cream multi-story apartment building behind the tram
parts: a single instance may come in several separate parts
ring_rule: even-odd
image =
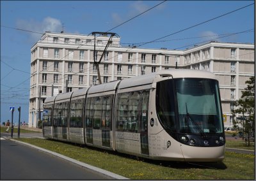
[[[98,61],[108,39],[96,38]],[[93,50],[94,36],[66,33],[45,33],[31,48],[30,127],[36,127],[45,98],[98,83]],[[100,77],[105,83],[175,68],[176,63],[178,68],[216,74],[225,125],[231,126],[234,101],[241,97],[245,81],[254,76],[253,44],[211,41],[186,50],[167,50],[121,47],[120,38],[114,37],[100,63]]]

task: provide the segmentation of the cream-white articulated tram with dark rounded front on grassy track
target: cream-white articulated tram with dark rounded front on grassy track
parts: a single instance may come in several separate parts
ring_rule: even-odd
[[[213,73],[170,69],[44,102],[45,138],[165,161],[219,162],[225,134]]]

